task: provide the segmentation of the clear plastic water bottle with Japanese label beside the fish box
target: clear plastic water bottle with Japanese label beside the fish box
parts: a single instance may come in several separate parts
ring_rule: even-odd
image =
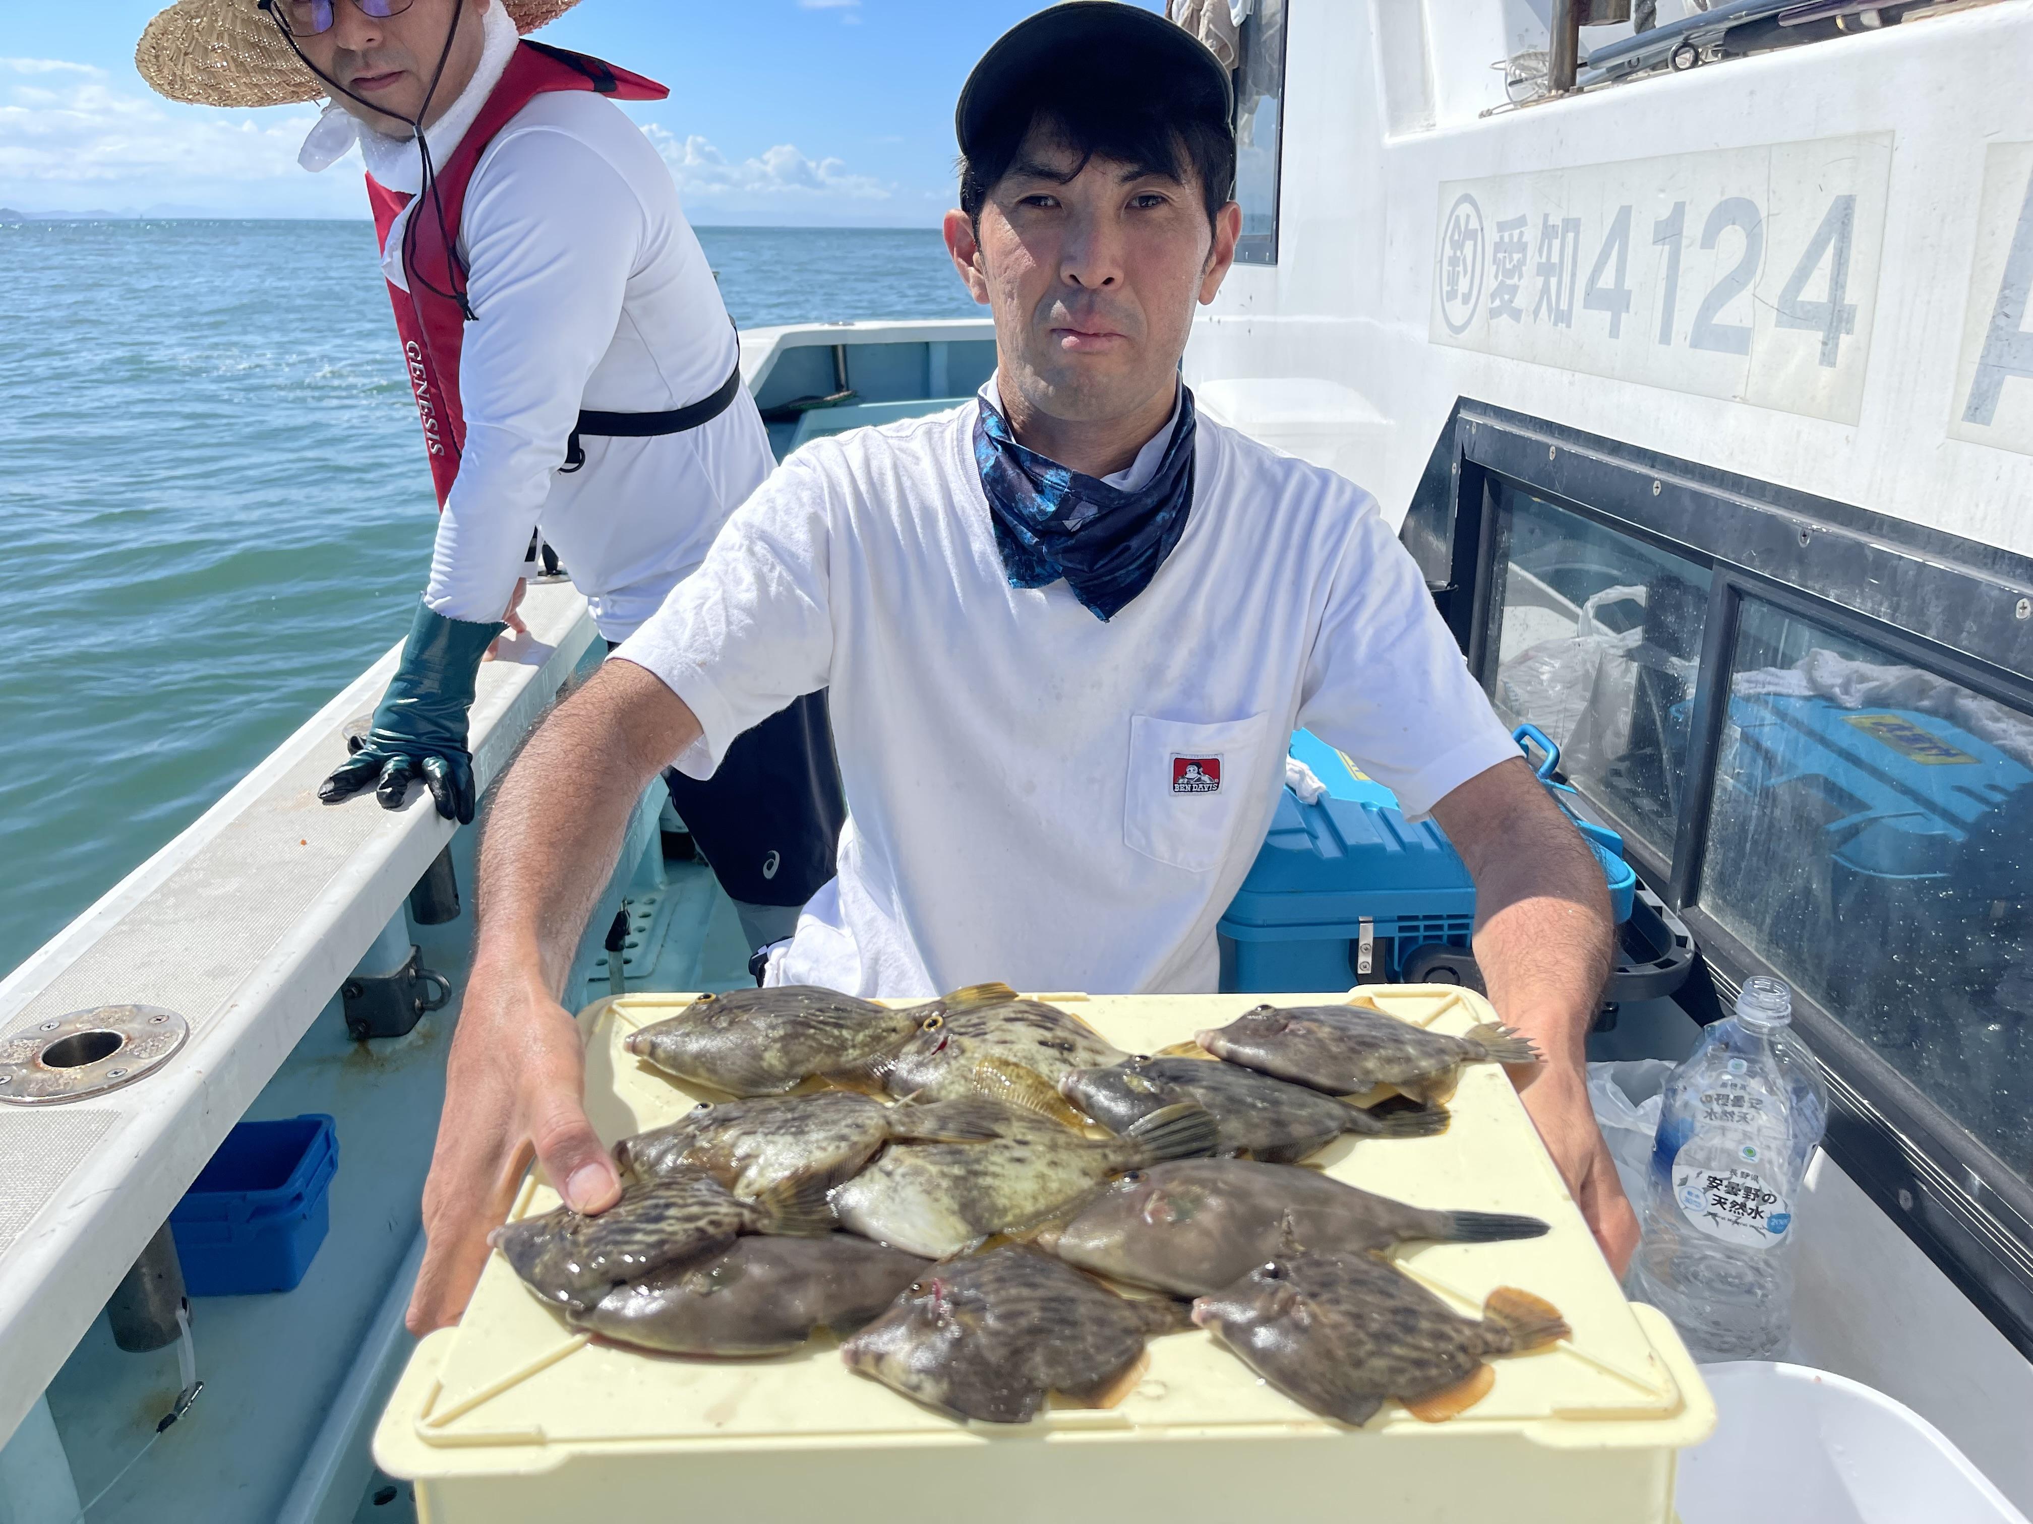
[[[1696,1359],[1773,1359],[1793,1325],[1793,1207],[1828,1122],[1793,992],[1750,977],[1665,1083],[1630,1290]]]

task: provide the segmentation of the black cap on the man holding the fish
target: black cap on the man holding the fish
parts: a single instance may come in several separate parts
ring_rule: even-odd
[[[1128,0],[1063,0],[1010,26],[974,65],[953,108],[960,152],[972,156],[982,128],[1010,96],[1067,59],[1106,59],[1110,73],[1163,79],[1181,116],[1234,128],[1234,83],[1206,43]]]

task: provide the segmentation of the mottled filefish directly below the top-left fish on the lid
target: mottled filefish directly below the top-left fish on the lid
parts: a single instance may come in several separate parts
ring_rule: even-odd
[[[996,1114],[998,1116],[998,1114]],[[677,1122],[614,1144],[624,1177],[705,1170],[738,1197],[756,1197],[783,1181],[817,1177],[840,1185],[890,1138],[984,1142],[1000,1136],[996,1116],[929,1105],[882,1105],[868,1095],[825,1089],[811,1095],[758,1095],[746,1101],[699,1101]]]

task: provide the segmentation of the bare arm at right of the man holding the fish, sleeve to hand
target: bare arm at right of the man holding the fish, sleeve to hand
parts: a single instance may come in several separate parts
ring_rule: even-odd
[[[1433,807],[1476,880],[1476,963],[1490,1004],[1545,1063],[1513,1069],[1525,1109],[1622,1276],[1639,1242],[1588,1103],[1588,1028],[1616,947],[1596,855],[1523,758],[1498,762]]]

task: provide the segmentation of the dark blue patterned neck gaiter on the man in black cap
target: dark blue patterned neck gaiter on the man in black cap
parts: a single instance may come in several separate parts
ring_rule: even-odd
[[[1019,445],[982,400],[974,463],[1010,587],[1065,579],[1104,624],[1151,585],[1193,508],[1193,392],[1179,386],[1179,419],[1157,473],[1136,492],[1082,475]]]

